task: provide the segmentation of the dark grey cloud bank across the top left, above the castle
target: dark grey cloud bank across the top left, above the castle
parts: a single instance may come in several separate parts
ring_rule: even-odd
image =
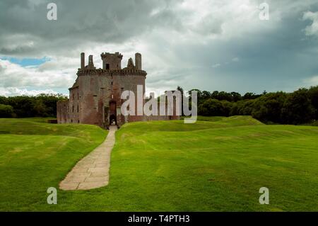
[[[178,23],[165,1],[53,1],[57,21],[47,20],[49,2],[1,1],[1,54],[37,55],[89,43],[124,43],[160,24]],[[157,7],[167,10],[149,16]]]

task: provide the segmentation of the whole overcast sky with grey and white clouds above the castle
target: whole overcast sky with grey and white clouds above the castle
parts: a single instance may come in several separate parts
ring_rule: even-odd
[[[148,91],[318,85],[318,1],[266,1],[268,21],[262,2],[1,0],[0,95],[68,94],[81,52],[95,67],[101,52],[121,52],[122,67],[141,52]]]

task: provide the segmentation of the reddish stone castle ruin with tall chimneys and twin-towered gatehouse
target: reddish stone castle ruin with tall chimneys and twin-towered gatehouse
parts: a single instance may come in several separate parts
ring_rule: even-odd
[[[122,92],[137,94],[137,86],[142,86],[143,94],[145,92],[147,73],[141,67],[141,54],[135,54],[135,64],[129,58],[123,69],[123,55],[119,52],[103,52],[100,56],[102,68],[96,68],[93,55],[88,57],[88,65],[85,65],[85,53],[81,53],[81,68],[75,83],[69,88],[69,100],[57,103],[57,123],[83,123],[108,128],[111,124],[123,125],[134,121],[179,119],[175,111],[173,115],[122,115],[121,106],[125,101],[121,99]]]

